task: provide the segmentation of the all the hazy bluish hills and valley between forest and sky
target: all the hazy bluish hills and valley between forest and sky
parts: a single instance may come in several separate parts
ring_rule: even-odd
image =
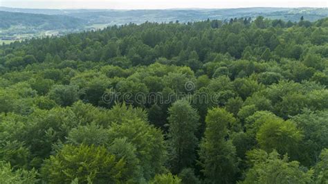
[[[55,10],[0,7],[0,41],[31,37],[65,35],[122,24],[180,21],[187,23],[206,19],[230,21],[257,16],[267,19],[316,21],[328,17],[328,8],[232,8],[167,10]],[[1,42],[0,42],[1,44]]]

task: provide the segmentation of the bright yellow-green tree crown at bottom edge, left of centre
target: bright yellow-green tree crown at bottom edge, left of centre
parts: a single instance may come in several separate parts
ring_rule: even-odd
[[[125,161],[116,160],[104,147],[65,145],[55,156],[45,160],[42,178],[48,183],[117,183],[125,172]]]

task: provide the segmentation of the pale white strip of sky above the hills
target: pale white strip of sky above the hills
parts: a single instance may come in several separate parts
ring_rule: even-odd
[[[0,6],[13,8],[246,8],[246,7],[318,7],[328,8],[328,0],[0,0]]]

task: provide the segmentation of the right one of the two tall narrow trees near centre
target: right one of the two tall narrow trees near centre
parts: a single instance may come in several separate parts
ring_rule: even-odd
[[[233,183],[237,173],[236,149],[228,136],[228,126],[236,120],[225,109],[211,109],[206,116],[205,137],[201,140],[199,161],[210,183]]]

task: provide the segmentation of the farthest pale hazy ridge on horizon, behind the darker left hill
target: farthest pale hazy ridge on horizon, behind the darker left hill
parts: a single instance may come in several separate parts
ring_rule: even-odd
[[[284,21],[298,21],[304,16],[306,20],[316,21],[328,16],[328,8],[228,8],[228,9],[167,9],[167,10],[54,10],[5,8],[9,12],[37,13],[44,15],[66,15],[84,19],[89,24],[140,24],[145,21],[181,22],[205,19],[231,19],[239,17],[257,17]]]

